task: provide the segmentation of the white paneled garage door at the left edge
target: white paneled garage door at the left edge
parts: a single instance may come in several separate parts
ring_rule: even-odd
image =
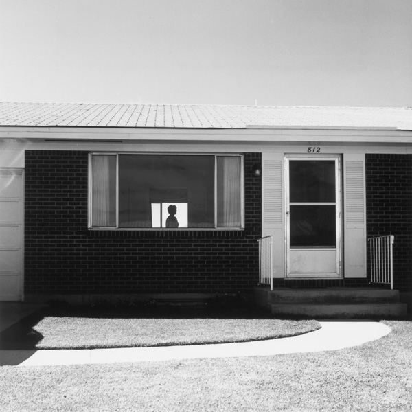
[[[23,299],[23,170],[0,169],[0,301]]]

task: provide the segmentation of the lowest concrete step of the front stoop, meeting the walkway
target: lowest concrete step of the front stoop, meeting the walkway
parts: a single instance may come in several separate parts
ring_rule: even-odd
[[[407,316],[407,304],[308,304],[278,303],[271,304],[271,312],[277,316],[305,318],[402,318]]]

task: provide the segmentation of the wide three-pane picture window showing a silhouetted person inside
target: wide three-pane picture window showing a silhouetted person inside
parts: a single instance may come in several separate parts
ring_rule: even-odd
[[[93,229],[243,226],[241,155],[91,155]]]

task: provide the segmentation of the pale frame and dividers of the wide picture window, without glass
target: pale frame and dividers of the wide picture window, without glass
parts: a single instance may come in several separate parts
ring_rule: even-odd
[[[93,227],[93,156],[116,157],[116,227]],[[214,157],[214,227],[119,227],[119,155],[170,155],[170,156],[213,156]],[[218,157],[240,158],[240,227],[218,227]],[[87,227],[91,231],[241,231],[244,230],[244,155],[242,153],[192,153],[192,152],[89,152]]]

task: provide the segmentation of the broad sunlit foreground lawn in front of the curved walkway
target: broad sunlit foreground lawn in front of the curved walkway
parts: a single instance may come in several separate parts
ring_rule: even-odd
[[[412,410],[412,323],[330,352],[118,365],[1,367],[1,411]]]

